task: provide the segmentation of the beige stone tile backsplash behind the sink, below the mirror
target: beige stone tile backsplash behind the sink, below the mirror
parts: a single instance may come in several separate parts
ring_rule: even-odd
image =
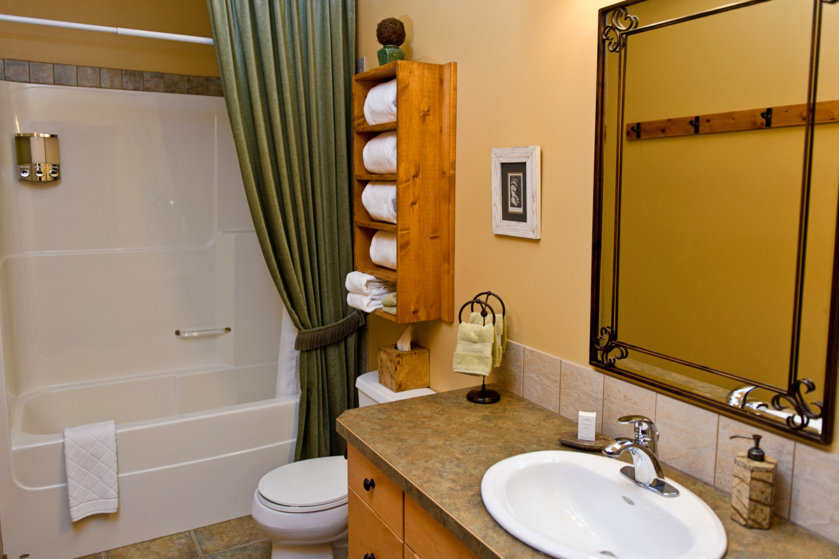
[[[631,434],[618,417],[650,417],[659,428],[662,462],[727,492],[732,488],[734,456],[750,446],[729,437],[763,435],[761,448],[778,460],[775,514],[839,543],[839,455],[513,341],[487,382],[559,410],[574,422],[578,411],[597,411],[597,431],[609,437]]]

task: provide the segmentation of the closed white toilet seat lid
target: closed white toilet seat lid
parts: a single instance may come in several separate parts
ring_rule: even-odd
[[[347,460],[329,456],[286,464],[265,474],[258,490],[265,499],[292,507],[347,499]]]

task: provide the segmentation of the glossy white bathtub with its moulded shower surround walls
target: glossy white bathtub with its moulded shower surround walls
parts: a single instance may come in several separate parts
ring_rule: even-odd
[[[224,100],[0,81],[0,132],[29,131],[60,135],[63,176],[0,173],[3,551],[73,559],[248,515],[294,456],[299,396]],[[119,510],[73,525],[61,433],[107,420]]]

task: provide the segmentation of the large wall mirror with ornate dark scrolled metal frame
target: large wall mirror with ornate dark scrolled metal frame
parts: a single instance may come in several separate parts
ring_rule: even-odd
[[[839,0],[599,17],[591,365],[830,443]]]

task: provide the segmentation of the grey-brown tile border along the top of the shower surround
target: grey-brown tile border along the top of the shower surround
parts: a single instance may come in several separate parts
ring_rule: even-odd
[[[221,78],[215,76],[118,70],[116,68],[54,64],[31,60],[0,59],[0,80],[42,85],[97,87],[123,91],[224,96],[221,91]]]

